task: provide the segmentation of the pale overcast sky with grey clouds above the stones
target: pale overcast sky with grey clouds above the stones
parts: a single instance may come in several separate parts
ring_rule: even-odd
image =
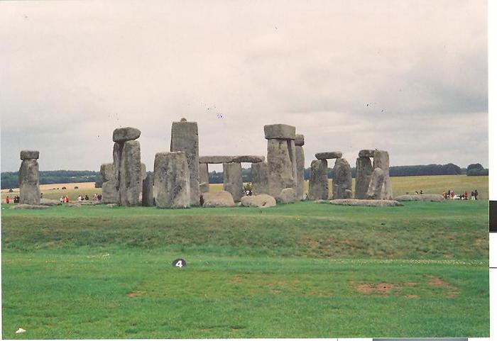
[[[186,2],[186,4],[184,3]],[[1,170],[97,170],[141,130],[153,169],[172,121],[200,155],[266,155],[288,123],[316,152],[488,165],[486,1],[0,2]]]

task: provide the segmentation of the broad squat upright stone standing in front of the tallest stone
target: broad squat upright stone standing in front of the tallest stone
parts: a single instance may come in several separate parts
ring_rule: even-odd
[[[190,170],[185,152],[155,154],[153,186],[157,207],[190,207]]]

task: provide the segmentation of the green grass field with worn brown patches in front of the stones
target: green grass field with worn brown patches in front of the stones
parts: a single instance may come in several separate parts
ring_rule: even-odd
[[[4,207],[4,338],[488,336],[485,201]]]

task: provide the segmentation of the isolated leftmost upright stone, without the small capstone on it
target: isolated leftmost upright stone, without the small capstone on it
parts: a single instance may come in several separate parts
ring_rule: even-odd
[[[38,161],[25,159],[19,168],[19,203],[40,204],[40,182],[38,180]]]

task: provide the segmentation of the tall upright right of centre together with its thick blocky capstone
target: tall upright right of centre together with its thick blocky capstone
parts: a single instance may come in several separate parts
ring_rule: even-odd
[[[285,188],[295,189],[295,127],[264,125],[264,135],[268,140],[268,194],[276,197]]]

